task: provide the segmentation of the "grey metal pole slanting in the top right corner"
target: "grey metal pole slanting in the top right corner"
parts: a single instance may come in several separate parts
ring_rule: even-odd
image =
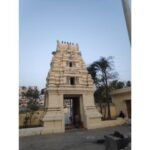
[[[122,6],[123,6],[124,16],[125,16],[125,20],[126,20],[128,36],[129,36],[129,40],[131,43],[131,10],[129,7],[128,0],[122,0]]]

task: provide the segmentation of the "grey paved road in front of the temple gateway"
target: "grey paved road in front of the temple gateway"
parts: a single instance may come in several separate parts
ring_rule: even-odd
[[[131,133],[131,127],[124,125],[93,130],[72,130],[63,134],[20,137],[19,150],[105,150],[105,146],[97,144],[96,141],[114,131],[128,135]]]

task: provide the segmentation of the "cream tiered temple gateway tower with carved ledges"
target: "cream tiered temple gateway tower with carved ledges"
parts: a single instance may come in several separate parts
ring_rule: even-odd
[[[94,84],[82,59],[79,45],[57,41],[56,51],[52,54],[53,58],[46,84],[46,114],[43,118],[43,132],[65,131],[65,98],[72,98],[74,103],[78,101],[75,104],[75,107],[78,108],[75,109],[84,128],[99,127],[101,114],[94,104]]]

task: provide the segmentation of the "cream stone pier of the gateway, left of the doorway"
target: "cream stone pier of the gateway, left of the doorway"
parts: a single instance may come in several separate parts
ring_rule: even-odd
[[[44,128],[42,134],[65,131],[62,100],[63,95],[48,92],[48,106],[43,118]]]

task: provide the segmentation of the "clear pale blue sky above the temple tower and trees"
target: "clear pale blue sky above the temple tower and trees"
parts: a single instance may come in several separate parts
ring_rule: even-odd
[[[131,50],[121,0],[20,0],[20,86],[45,87],[56,41],[78,43],[88,65],[114,56],[131,80]]]

